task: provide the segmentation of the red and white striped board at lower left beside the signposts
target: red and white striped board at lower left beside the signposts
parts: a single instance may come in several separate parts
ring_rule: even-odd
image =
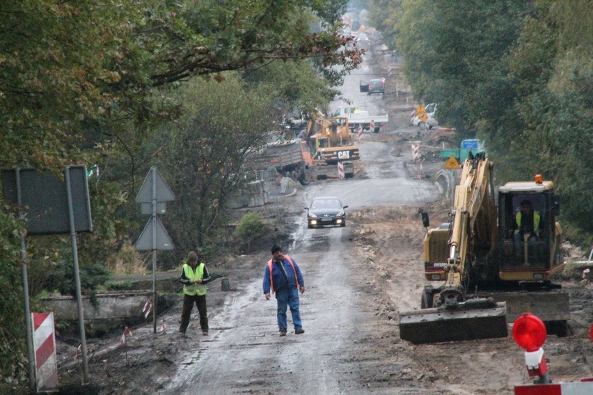
[[[49,391],[58,387],[58,360],[54,313],[31,313],[37,389]]]

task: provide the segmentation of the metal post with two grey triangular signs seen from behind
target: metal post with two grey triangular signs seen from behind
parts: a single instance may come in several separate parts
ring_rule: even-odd
[[[152,330],[157,333],[157,250],[173,250],[169,237],[157,213],[166,212],[166,203],[175,200],[175,195],[167,185],[156,166],[152,166],[144,179],[136,202],[141,204],[143,214],[151,214],[150,220],[136,241],[136,250],[152,250]],[[151,210],[148,210],[148,206]]]

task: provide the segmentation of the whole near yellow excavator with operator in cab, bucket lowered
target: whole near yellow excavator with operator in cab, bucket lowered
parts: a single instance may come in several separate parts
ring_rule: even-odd
[[[413,344],[507,337],[523,312],[539,316],[550,334],[569,334],[569,296],[551,277],[564,270],[560,201],[551,181],[493,187],[485,153],[464,161],[450,223],[424,240],[426,286],[420,309],[400,312],[400,337]],[[523,229],[529,202],[537,218]],[[535,213],[537,212],[537,213]],[[525,217],[528,217],[525,215]],[[422,222],[429,227],[427,213]],[[444,281],[444,283],[443,283]]]

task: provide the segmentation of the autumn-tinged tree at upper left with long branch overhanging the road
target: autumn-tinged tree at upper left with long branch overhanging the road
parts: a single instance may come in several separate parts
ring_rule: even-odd
[[[181,106],[168,88],[195,76],[216,74],[220,80],[224,70],[294,58],[315,58],[325,69],[344,65],[347,72],[361,58],[332,23],[344,3],[5,1],[0,6],[1,164],[60,173],[65,164],[103,167],[123,156],[134,159],[163,130],[159,125],[180,116]],[[312,33],[309,23],[315,17],[326,23]],[[127,176],[103,177],[101,182],[120,185],[92,191],[104,193],[93,206],[106,213],[95,216],[103,221],[97,227],[105,231],[102,237],[113,237],[111,229],[121,228],[114,214],[120,189],[134,186],[136,169]],[[2,229],[15,224],[12,216],[0,222]],[[1,241],[11,243],[11,234],[3,232]],[[118,242],[109,239],[103,247]],[[35,252],[35,245],[31,248]],[[56,246],[53,251],[58,253],[53,264],[68,261],[65,250]],[[104,264],[103,258],[98,264]],[[15,266],[16,259],[0,261],[3,273],[13,273]],[[5,313],[6,325],[19,325],[19,316],[0,311]]]

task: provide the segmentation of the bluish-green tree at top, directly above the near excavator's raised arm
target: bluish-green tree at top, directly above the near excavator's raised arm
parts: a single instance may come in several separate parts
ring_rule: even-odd
[[[530,2],[405,1],[398,48],[415,95],[438,102],[438,117],[461,131],[505,122],[514,81],[508,57]],[[501,116],[503,115],[503,116]]]

